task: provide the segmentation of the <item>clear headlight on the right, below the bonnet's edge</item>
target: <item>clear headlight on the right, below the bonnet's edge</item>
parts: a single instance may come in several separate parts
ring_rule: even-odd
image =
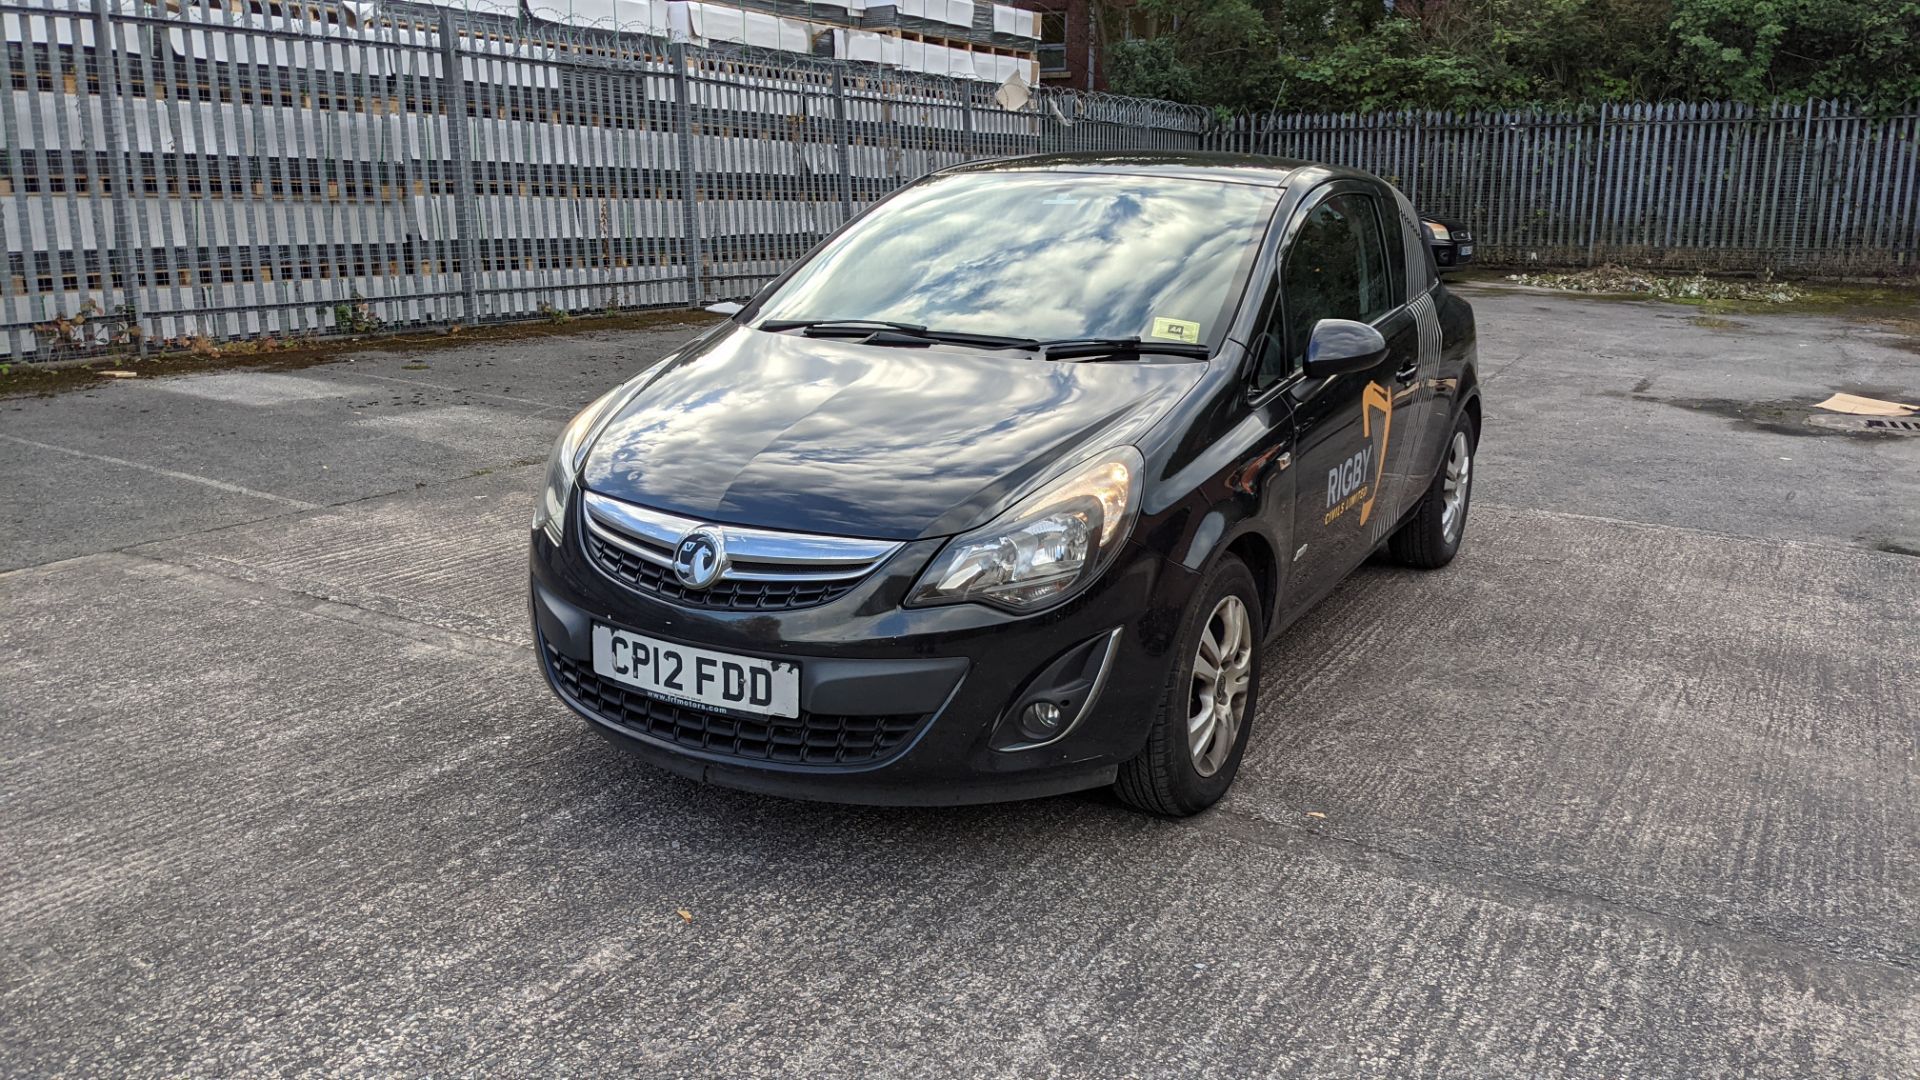
[[[993,603],[1039,611],[1087,588],[1140,513],[1140,452],[1121,446],[954,536],[920,575],[908,607]]]

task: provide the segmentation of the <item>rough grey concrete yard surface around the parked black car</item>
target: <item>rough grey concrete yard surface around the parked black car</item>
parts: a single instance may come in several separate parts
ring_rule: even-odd
[[[0,402],[0,1074],[1920,1074],[1920,438],[1807,423],[1912,342],[1467,292],[1465,552],[1187,822],[572,719],[540,461],[691,331]]]

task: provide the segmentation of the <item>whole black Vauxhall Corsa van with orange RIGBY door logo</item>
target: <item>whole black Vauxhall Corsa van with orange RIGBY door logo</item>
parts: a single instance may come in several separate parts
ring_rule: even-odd
[[[566,427],[536,650],[712,784],[1190,815],[1265,640],[1382,546],[1453,557],[1478,434],[1473,311],[1380,179],[960,165]]]

